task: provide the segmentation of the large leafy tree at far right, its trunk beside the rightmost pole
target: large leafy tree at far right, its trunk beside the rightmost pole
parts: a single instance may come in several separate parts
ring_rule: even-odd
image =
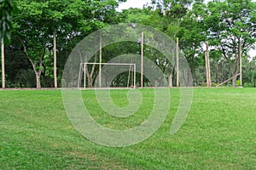
[[[212,1],[207,3],[204,12],[209,42],[222,52],[225,60],[233,63],[230,72],[234,76],[232,84],[236,86],[239,42],[242,54],[246,54],[256,42],[256,3],[251,0]]]

